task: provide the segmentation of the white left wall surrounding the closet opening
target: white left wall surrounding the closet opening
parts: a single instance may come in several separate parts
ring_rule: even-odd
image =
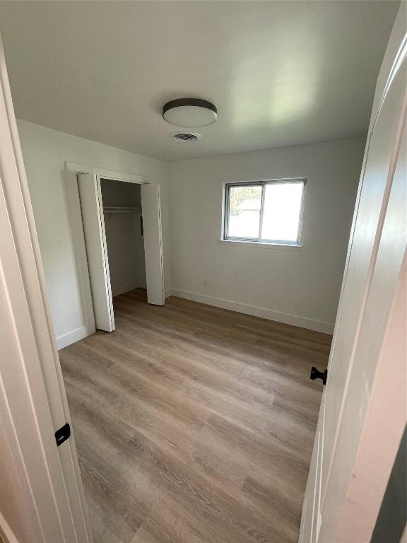
[[[83,263],[78,260],[78,255],[84,251],[83,239],[78,238],[80,203],[77,192],[68,186],[64,177],[64,161],[147,175],[160,182],[165,288],[168,289],[171,284],[171,271],[165,165],[153,158],[25,121],[18,121],[18,133],[33,202],[57,344],[61,347],[88,333],[81,284]],[[83,245],[80,252],[78,243]]]

